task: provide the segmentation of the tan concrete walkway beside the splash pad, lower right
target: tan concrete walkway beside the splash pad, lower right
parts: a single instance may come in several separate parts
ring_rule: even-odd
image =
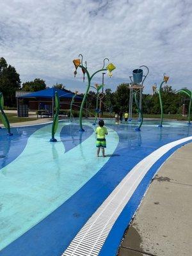
[[[120,256],[192,255],[192,143],[161,166],[132,221]]]

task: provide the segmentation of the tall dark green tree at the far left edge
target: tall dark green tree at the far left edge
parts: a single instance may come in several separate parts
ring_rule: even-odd
[[[19,74],[15,67],[8,65],[6,60],[0,58],[0,92],[3,93],[4,105],[15,106],[15,92],[20,89]]]

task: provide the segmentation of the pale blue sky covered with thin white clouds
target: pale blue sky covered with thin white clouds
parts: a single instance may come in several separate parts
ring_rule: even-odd
[[[115,64],[112,90],[140,65],[150,69],[146,93],[164,72],[173,88],[192,89],[191,0],[0,0],[0,9],[0,56],[22,83],[40,77],[84,92],[72,63],[81,53],[90,73],[104,58]]]

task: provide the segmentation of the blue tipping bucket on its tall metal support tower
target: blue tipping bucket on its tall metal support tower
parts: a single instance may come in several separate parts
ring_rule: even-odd
[[[141,67],[147,68],[147,74],[143,75],[143,69]],[[139,106],[142,109],[142,93],[143,93],[143,83],[148,76],[149,69],[147,66],[142,65],[140,68],[132,70],[132,76],[129,76],[131,83],[129,84],[130,94],[129,94],[129,121],[132,121],[132,98],[135,92],[140,92]],[[139,121],[141,121],[141,113],[139,114]]]

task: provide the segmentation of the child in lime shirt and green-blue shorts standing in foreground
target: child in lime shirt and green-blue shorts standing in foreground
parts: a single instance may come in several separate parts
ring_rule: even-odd
[[[106,148],[106,135],[108,135],[108,130],[104,127],[104,120],[99,120],[99,127],[97,127],[95,133],[97,134],[97,156],[99,156],[100,148],[102,150],[102,156],[105,157],[105,150]]]

